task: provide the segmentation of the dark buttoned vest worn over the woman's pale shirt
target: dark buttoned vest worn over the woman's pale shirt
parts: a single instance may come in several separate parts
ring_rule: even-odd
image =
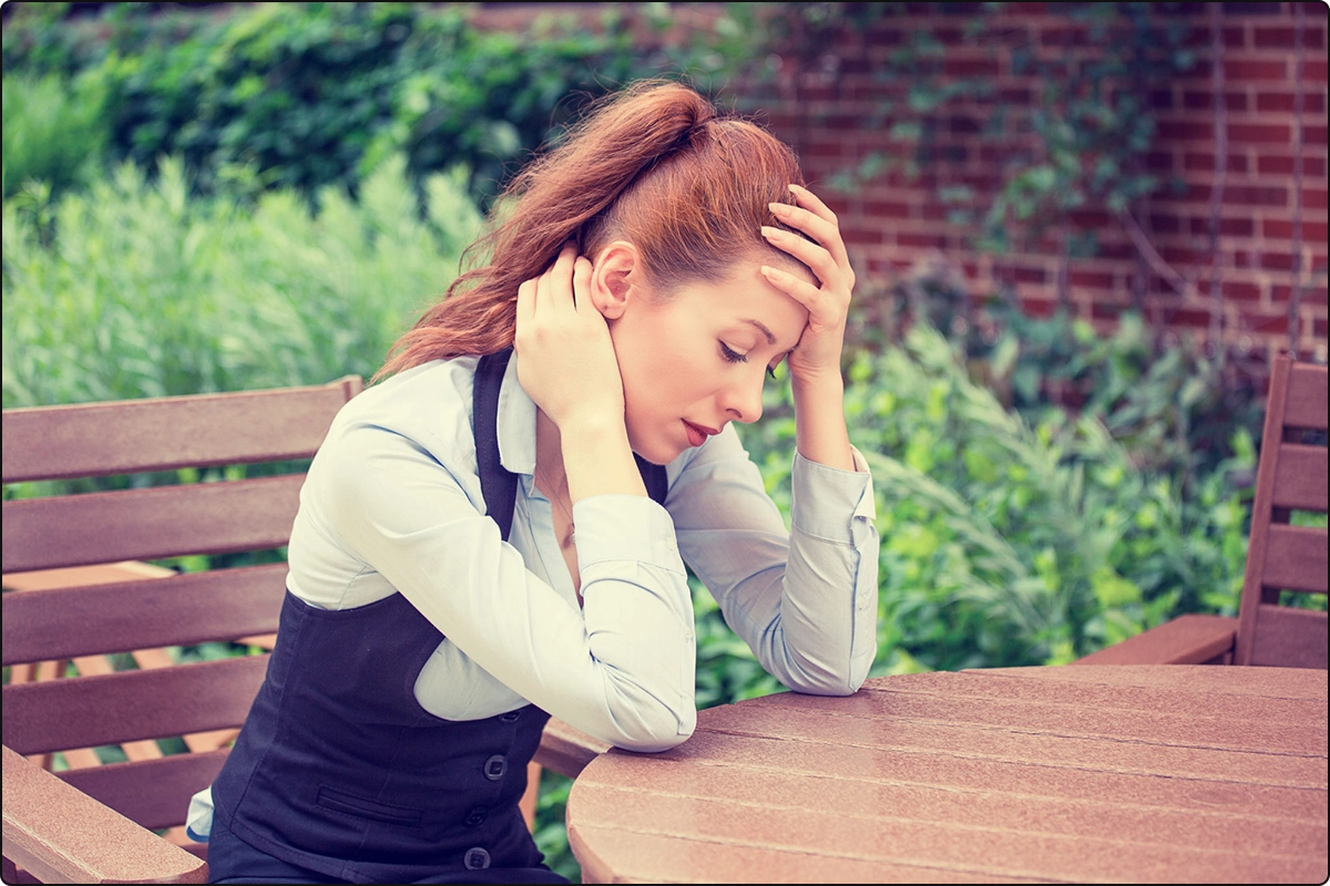
[[[517,476],[499,464],[495,424],[509,356],[480,359],[472,404],[485,510],[504,539]],[[665,469],[637,461],[664,502]],[[255,849],[351,882],[537,866],[517,800],[549,715],[424,711],[415,680],[442,640],[400,594],[327,611],[287,591],[267,676],[213,782],[215,814]]]

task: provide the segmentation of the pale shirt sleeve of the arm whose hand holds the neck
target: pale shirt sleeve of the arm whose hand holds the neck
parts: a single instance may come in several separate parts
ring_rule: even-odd
[[[692,735],[692,599],[664,507],[632,495],[577,502],[577,611],[407,437],[344,430],[315,473],[322,501],[302,506],[513,692],[622,748],[662,751]]]

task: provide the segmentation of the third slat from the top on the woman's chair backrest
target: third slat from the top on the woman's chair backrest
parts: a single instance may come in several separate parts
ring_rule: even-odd
[[[286,563],[4,595],[5,665],[277,630]]]

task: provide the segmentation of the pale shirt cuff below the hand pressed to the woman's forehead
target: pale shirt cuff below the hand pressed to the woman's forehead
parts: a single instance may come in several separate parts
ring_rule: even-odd
[[[854,521],[876,519],[872,476],[858,449],[850,446],[855,470],[829,468],[794,453],[790,477],[790,525],[815,538],[854,543]]]

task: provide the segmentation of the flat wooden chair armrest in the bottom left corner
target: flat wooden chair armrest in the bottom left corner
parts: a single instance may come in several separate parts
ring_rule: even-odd
[[[207,865],[4,749],[4,857],[48,883],[205,883]]]

